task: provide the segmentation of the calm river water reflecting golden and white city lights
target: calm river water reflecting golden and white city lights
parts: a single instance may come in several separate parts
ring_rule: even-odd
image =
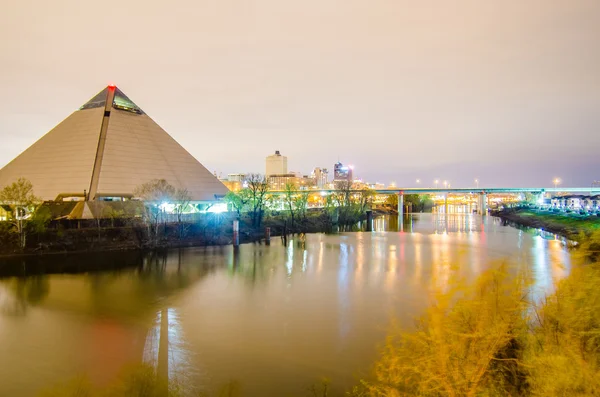
[[[0,396],[81,376],[102,387],[141,362],[208,393],[304,396],[324,377],[343,390],[368,373],[390,323],[410,325],[450,279],[504,260],[543,293],[570,269],[563,241],[493,217],[383,217],[375,230],[22,261],[70,273],[0,279]],[[110,270],[78,273],[88,262]]]

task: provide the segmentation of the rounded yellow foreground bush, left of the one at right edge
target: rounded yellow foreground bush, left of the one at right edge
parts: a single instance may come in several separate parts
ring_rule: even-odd
[[[501,266],[472,287],[451,287],[436,294],[416,330],[388,336],[370,395],[522,395],[527,279]]]

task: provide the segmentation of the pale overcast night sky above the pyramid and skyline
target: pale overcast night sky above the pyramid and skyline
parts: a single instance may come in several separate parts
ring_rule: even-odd
[[[600,179],[598,0],[5,1],[0,166],[115,83],[211,171]]]

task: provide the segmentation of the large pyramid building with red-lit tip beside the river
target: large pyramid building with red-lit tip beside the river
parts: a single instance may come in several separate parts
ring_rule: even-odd
[[[193,201],[227,188],[115,86],[108,86],[0,169],[0,189],[24,177],[43,200],[131,197],[165,179]]]

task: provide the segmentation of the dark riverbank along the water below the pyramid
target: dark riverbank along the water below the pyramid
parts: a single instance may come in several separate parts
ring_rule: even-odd
[[[374,217],[386,214],[373,211]],[[147,252],[156,249],[231,245],[233,243],[233,221],[237,214],[205,214],[194,222],[165,223],[158,225],[156,235],[150,235],[147,224],[139,219],[99,220],[82,226],[82,222],[51,223],[43,230],[28,233],[27,245],[18,247],[15,233],[0,230],[0,266],[10,258],[61,255],[90,252]],[[241,244],[265,239],[266,228],[270,235],[278,238],[298,233],[328,233],[339,227],[358,230],[366,219],[366,213],[352,215],[350,226],[335,224],[326,211],[309,211],[305,217],[295,219],[279,212],[266,216],[260,226],[253,226],[247,214],[239,217],[239,241]],[[105,222],[106,221],[106,222]]]

